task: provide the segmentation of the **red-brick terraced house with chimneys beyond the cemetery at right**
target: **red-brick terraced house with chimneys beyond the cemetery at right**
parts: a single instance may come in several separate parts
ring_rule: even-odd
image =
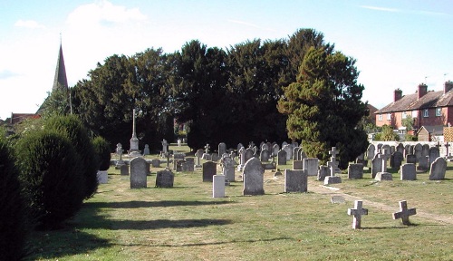
[[[417,92],[402,95],[397,89],[393,92],[393,102],[374,112],[376,126],[390,125],[393,129],[404,129],[402,121],[410,115],[414,129],[422,126],[447,126],[453,123],[453,82],[445,82],[442,91],[428,92],[428,86],[419,84]],[[409,131],[409,130],[408,130]]]

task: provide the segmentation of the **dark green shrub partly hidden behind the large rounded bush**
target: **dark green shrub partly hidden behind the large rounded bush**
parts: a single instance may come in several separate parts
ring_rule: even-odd
[[[99,160],[88,131],[83,127],[82,121],[75,115],[53,116],[44,123],[46,130],[63,132],[71,140],[76,153],[82,160],[77,168],[82,170],[85,198],[91,198],[98,189],[97,172]]]

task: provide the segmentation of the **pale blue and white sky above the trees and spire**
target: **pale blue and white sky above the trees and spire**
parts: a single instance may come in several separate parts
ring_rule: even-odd
[[[70,87],[113,54],[173,53],[191,40],[226,50],[247,40],[323,33],[361,72],[363,102],[453,80],[450,0],[2,0],[0,119],[34,113],[52,91],[60,43]]]

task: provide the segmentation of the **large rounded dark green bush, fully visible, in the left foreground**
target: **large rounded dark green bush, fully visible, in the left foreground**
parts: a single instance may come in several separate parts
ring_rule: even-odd
[[[71,141],[55,131],[34,131],[16,144],[24,198],[38,227],[58,227],[82,206],[81,160]]]

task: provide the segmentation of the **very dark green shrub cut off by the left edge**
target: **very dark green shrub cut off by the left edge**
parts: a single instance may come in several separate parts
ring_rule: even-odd
[[[0,260],[24,256],[27,222],[12,151],[0,134]]]

